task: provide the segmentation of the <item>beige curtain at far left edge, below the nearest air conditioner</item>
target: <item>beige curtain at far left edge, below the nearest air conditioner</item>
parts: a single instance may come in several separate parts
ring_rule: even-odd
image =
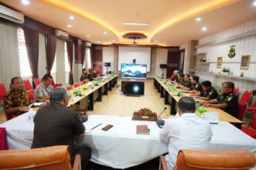
[[[0,23],[0,82],[9,90],[13,76],[20,76],[17,29]]]

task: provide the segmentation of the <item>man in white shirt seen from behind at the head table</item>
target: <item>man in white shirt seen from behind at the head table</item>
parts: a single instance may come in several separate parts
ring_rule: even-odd
[[[176,164],[178,151],[207,150],[213,136],[209,122],[195,114],[195,100],[191,97],[182,97],[178,101],[178,114],[180,117],[165,121],[160,134],[161,141],[168,143],[168,155],[165,158],[169,170]]]

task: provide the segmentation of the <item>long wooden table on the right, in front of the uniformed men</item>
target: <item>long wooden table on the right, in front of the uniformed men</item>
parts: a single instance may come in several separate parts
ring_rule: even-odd
[[[157,92],[160,93],[160,96],[164,98],[164,104],[168,104],[171,106],[171,113],[172,115],[176,114],[176,107],[177,102],[181,98],[176,95],[176,93],[172,90],[170,90],[170,85],[167,83],[166,80],[159,79],[157,77],[154,78],[154,87],[157,89]],[[189,95],[189,94],[187,94]],[[195,99],[198,101],[202,101],[199,99]],[[237,128],[241,128],[241,125],[244,124],[243,121],[240,121],[236,117],[231,116],[230,114],[227,114],[227,112],[214,107],[205,107],[207,112],[215,112],[219,116],[219,121],[227,121],[231,124],[234,124]]]

